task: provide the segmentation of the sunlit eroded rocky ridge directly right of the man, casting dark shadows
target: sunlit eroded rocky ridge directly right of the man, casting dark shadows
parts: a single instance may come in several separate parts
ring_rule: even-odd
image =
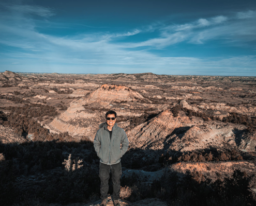
[[[179,112],[174,117],[165,110],[149,122],[128,132],[134,147],[191,151],[208,147],[232,146],[255,151],[255,134],[247,134],[246,127],[218,121],[204,121]]]

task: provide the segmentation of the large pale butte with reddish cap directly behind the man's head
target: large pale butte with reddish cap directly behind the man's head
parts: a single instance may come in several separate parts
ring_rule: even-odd
[[[84,91],[79,90],[76,94],[80,95],[80,92],[84,93]],[[98,125],[105,121],[104,116],[107,112],[106,110],[101,111],[100,108],[107,107],[111,110],[112,106],[109,106],[111,102],[117,104],[123,101],[134,101],[135,104],[137,100],[142,99],[144,99],[142,95],[125,86],[104,84],[88,96],[72,101],[68,109],[55,117],[48,128],[53,132],[68,131],[71,135],[86,136],[93,140]],[[88,106],[87,110],[85,110],[84,105]],[[95,111],[95,108],[99,108],[99,110]],[[115,111],[118,115],[123,116],[138,115],[120,107],[115,107]]]

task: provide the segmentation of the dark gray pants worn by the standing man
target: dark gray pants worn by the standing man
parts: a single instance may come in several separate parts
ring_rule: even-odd
[[[121,162],[117,164],[107,165],[100,162],[100,198],[105,199],[108,197],[109,192],[109,174],[112,173],[113,182],[113,198],[119,199],[119,194],[121,190],[120,178],[122,176],[122,165]]]

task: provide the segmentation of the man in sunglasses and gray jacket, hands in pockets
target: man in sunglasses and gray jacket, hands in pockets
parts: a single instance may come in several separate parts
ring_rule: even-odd
[[[120,178],[122,175],[121,157],[127,151],[129,141],[125,131],[122,128],[117,127],[115,122],[116,112],[108,111],[106,113],[106,122],[99,125],[100,129],[97,131],[94,139],[94,148],[100,158],[99,177],[101,181],[100,197],[102,199],[100,206],[106,206],[108,202],[110,171],[112,173],[114,205],[120,206]]]

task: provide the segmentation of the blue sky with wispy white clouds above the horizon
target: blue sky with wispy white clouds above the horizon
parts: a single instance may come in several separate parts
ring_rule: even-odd
[[[0,72],[256,76],[256,1],[2,1]]]

